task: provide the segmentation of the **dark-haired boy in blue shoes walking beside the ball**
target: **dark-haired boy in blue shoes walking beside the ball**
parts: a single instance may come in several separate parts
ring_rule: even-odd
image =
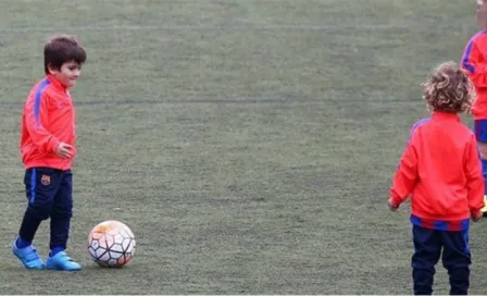
[[[58,36],[43,49],[46,77],[30,90],[22,116],[21,153],[28,199],[13,254],[27,269],[76,271],[66,252],[73,207],[75,111],[68,88],[79,77],[85,49],[71,36]],[[39,258],[33,239],[42,220],[50,221],[50,254]]]

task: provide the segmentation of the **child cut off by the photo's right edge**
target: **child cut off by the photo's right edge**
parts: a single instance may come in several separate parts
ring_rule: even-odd
[[[477,21],[483,29],[469,40],[462,57],[462,67],[476,88],[477,100],[472,114],[487,190],[487,60],[484,57],[487,51],[487,0],[477,0]],[[487,192],[484,193],[484,202],[486,207],[482,211],[487,215]]]

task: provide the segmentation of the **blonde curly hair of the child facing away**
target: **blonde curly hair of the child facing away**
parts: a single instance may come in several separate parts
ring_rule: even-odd
[[[432,111],[470,112],[476,94],[466,73],[454,62],[440,64],[423,84],[423,98]]]

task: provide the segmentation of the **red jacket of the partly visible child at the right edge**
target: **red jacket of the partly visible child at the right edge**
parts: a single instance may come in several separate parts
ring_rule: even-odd
[[[462,57],[462,69],[466,70],[477,91],[472,108],[475,120],[487,120],[487,30],[475,34],[466,44]]]

